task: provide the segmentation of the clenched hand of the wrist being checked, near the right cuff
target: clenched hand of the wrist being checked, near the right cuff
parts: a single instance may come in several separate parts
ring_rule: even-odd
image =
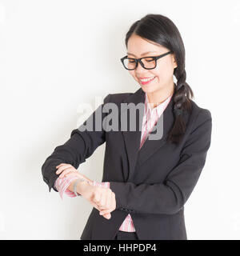
[[[79,185],[79,183],[81,183]],[[107,210],[108,213],[103,214],[104,218],[110,219],[110,212],[116,209],[115,193],[106,187],[92,186],[87,182],[79,182],[80,194],[86,198],[94,208],[100,211]]]

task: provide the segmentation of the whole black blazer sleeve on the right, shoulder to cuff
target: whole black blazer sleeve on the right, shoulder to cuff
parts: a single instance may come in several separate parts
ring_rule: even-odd
[[[178,165],[162,183],[135,185],[133,182],[110,182],[115,193],[116,209],[142,214],[175,214],[186,203],[206,162],[210,147],[212,118],[202,109],[183,149]]]

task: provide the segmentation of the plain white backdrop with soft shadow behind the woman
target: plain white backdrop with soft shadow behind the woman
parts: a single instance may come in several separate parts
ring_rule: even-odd
[[[78,127],[79,105],[134,92],[125,35],[146,14],[182,34],[186,82],[210,110],[206,165],[185,205],[188,239],[239,239],[239,28],[236,1],[0,1],[1,239],[80,239],[92,206],[63,200],[41,166]],[[102,181],[105,144],[78,170]]]

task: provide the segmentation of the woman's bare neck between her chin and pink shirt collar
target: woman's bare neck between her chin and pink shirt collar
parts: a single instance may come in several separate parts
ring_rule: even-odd
[[[174,82],[171,86],[164,87],[160,90],[155,90],[154,92],[146,93],[148,102],[151,103],[150,107],[154,108],[164,102],[171,94],[174,94]]]

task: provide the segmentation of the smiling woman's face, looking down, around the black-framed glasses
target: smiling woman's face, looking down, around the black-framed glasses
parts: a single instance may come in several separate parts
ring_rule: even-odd
[[[168,51],[169,49],[166,47],[141,38],[136,34],[132,34],[127,43],[128,58],[158,56]],[[150,53],[145,54],[146,52]],[[158,58],[157,66],[153,70],[146,70],[138,63],[138,67],[135,70],[129,70],[129,73],[139,83],[143,91],[153,93],[157,90],[172,89],[174,85],[174,68],[176,66],[177,62],[174,60],[174,55],[167,54],[162,58]],[[141,78],[154,78],[154,80],[143,84]]]

